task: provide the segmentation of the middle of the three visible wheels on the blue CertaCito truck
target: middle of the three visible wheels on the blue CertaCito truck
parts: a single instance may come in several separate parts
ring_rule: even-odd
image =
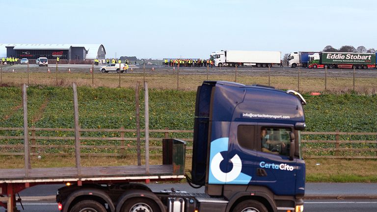
[[[128,199],[120,209],[120,212],[161,212],[159,206],[147,198]]]

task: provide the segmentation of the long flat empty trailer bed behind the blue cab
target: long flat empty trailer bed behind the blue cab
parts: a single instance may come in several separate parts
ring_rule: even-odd
[[[35,183],[61,181],[94,181],[94,180],[133,180],[145,179],[182,179],[183,175],[173,174],[173,165],[150,165],[149,174],[143,166],[92,166],[81,167],[78,175],[76,167],[0,169],[0,183]]]

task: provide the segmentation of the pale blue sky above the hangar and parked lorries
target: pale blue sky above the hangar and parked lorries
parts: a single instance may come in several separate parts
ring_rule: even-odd
[[[0,43],[103,44],[107,57],[377,48],[376,0],[0,0]]]

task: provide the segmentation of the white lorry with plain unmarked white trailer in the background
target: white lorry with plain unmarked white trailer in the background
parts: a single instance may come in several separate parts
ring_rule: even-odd
[[[281,52],[268,51],[217,51],[211,53],[215,66],[271,67],[280,64]]]

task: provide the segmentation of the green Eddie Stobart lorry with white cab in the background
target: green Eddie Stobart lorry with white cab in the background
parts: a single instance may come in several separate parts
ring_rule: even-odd
[[[308,68],[368,69],[376,67],[374,53],[323,52],[309,55]]]

